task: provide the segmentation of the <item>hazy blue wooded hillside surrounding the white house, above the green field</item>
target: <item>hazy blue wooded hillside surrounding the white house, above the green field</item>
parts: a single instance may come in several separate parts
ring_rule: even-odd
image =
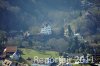
[[[99,17],[100,0],[0,0],[0,40],[7,34],[8,43],[18,47],[91,53],[91,45],[100,44]],[[40,35],[44,24],[51,26],[52,35]],[[23,35],[27,31],[31,37]]]

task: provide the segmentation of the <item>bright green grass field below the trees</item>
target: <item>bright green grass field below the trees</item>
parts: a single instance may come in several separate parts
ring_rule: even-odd
[[[39,58],[49,58],[49,57],[59,57],[58,52],[55,51],[36,51],[33,49],[21,49],[23,51],[23,54],[21,55],[24,59],[27,59],[28,57],[34,58],[34,56],[38,56]]]

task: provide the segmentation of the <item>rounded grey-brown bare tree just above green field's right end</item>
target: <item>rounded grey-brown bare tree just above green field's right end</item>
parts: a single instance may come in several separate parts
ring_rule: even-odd
[[[63,38],[51,38],[47,44],[51,47],[51,50],[67,52],[68,42],[66,42]]]

